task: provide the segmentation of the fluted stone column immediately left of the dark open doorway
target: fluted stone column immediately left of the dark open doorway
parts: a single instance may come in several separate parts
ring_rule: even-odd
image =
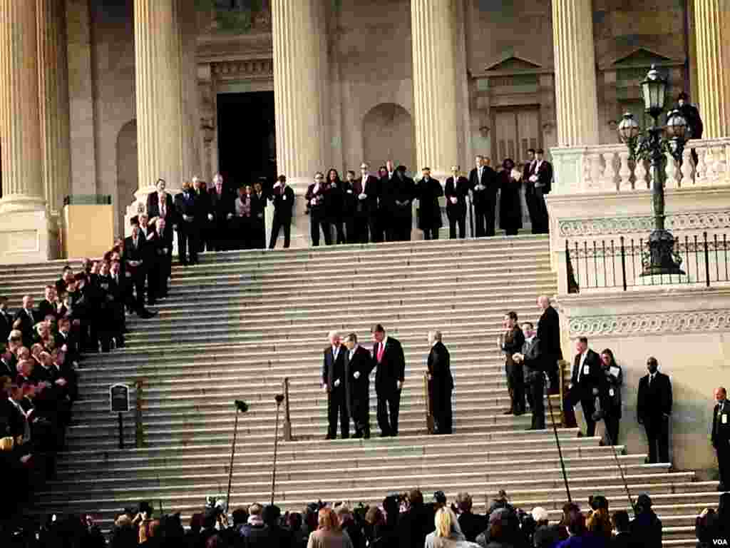
[[[188,0],[134,0],[138,202],[158,178],[173,194],[183,177],[183,70],[180,15]],[[194,38],[191,38],[194,39]]]

